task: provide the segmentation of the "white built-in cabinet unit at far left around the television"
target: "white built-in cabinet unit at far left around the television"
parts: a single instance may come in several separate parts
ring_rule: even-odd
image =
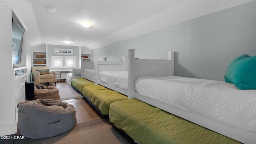
[[[7,1],[6,1],[7,2]],[[6,136],[17,133],[17,123],[18,123],[18,108],[17,105],[25,100],[25,85],[24,82],[27,78],[27,39],[26,31],[27,28],[24,22],[21,20],[20,16],[16,12],[13,6],[8,4],[0,4],[0,43],[1,50],[0,58],[0,75],[1,75],[1,112],[0,112],[0,136]],[[21,50],[21,60],[20,63],[14,64],[12,57],[16,51],[13,51],[16,47],[14,45],[14,35],[16,35],[13,24],[17,24],[23,31],[23,41]],[[13,28],[13,29],[12,29]],[[21,32],[21,31],[20,31]],[[14,34],[15,33],[15,34]],[[21,39],[20,39],[21,40]],[[18,41],[17,41],[18,42]],[[18,43],[17,47],[18,47]],[[19,71],[18,75],[15,76],[15,71]],[[22,73],[23,70],[23,73]],[[16,73],[17,74],[17,73]],[[0,140],[0,143],[2,141]],[[8,142],[8,140],[6,141]]]

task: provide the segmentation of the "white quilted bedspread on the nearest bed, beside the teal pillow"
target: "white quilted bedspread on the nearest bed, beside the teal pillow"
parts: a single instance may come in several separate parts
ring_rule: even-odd
[[[140,77],[135,89],[176,108],[256,132],[256,90],[238,90],[226,82],[179,76]]]

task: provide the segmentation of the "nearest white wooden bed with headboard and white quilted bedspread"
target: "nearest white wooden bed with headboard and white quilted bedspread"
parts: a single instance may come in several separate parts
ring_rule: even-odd
[[[225,82],[192,78],[178,80],[179,77],[172,77],[174,53],[170,55],[171,62],[138,60],[134,59],[134,50],[128,50],[128,98],[136,98],[239,142],[255,144],[255,90],[249,90],[248,96],[244,90],[238,92],[234,85]],[[172,82],[163,80],[168,78]],[[170,87],[179,88],[171,91]],[[158,96],[152,97],[150,93]],[[191,94],[196,96],[190,97]]]

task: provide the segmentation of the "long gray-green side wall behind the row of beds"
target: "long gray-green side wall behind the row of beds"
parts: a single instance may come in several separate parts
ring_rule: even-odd
[[[122,60],[131,48],[144,59],[167,59],[175,51],[176,76],[224,81],[234,58],[256,55],[256,1],[97,48],[92,56]]]

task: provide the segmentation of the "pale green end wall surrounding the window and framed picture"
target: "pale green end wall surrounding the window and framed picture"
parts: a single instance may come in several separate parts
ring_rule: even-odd
[[[79,67],[79,50],[78,50],[78,46],[60,46],[60,45],[52,45],[52,44],[48,44],[47,46],[47,61],[48,61],[48,66],[49,68],[51,68],[51,56],[76,56],[76,67]],[[73,53],[74,55],[54,55],[54,48],[62,48],[62,49],[73,49]],[[67,68],[59,68],[59,69],[67,69]]]

